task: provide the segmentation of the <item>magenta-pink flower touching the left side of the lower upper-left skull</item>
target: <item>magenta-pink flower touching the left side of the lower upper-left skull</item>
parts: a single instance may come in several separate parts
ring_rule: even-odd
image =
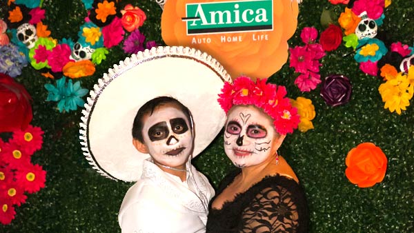
[[[73,61],[69,59],[70,53],[70,47],[66,43],[59,44],[52,52],[48,52],[48,64],[52,72],[61,72],[66,63]]]

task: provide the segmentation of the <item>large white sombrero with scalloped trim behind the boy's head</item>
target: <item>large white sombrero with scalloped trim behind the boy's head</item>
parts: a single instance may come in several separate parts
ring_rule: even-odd
[[[186,47],[158,47],[133,54],[109,69],[95,84],[82,110],[83,154],[103,176],[137,181],[142,161],[132,145],[137,110],[155,97],[173,97],[193,115],[193,157],[213,141],[224,125],[218,94],[230,76],[210,55]]]

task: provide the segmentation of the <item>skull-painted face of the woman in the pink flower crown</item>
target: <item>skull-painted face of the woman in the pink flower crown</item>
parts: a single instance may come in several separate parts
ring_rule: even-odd
[[[257,165],[275,154],[277,136],[270,117],[254,106],[239,105],[228,113],[224,132],[224,150],[239,168]]]

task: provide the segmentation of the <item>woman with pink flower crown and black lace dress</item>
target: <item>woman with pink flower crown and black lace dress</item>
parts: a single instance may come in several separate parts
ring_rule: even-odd
[[[207,232],[308,232],[304,191],[277,154],[299,123],[286,89],[238,77],[219,94],[227,113],[224,150],[237,167],[210,203]]]

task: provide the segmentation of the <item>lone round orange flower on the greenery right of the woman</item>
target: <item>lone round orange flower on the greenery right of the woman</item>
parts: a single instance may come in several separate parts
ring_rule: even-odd
[[[359,188],[368,188],[384,179],[387,159],[375,144],[361,143],[348,152],[345,163],[348,180]]]

